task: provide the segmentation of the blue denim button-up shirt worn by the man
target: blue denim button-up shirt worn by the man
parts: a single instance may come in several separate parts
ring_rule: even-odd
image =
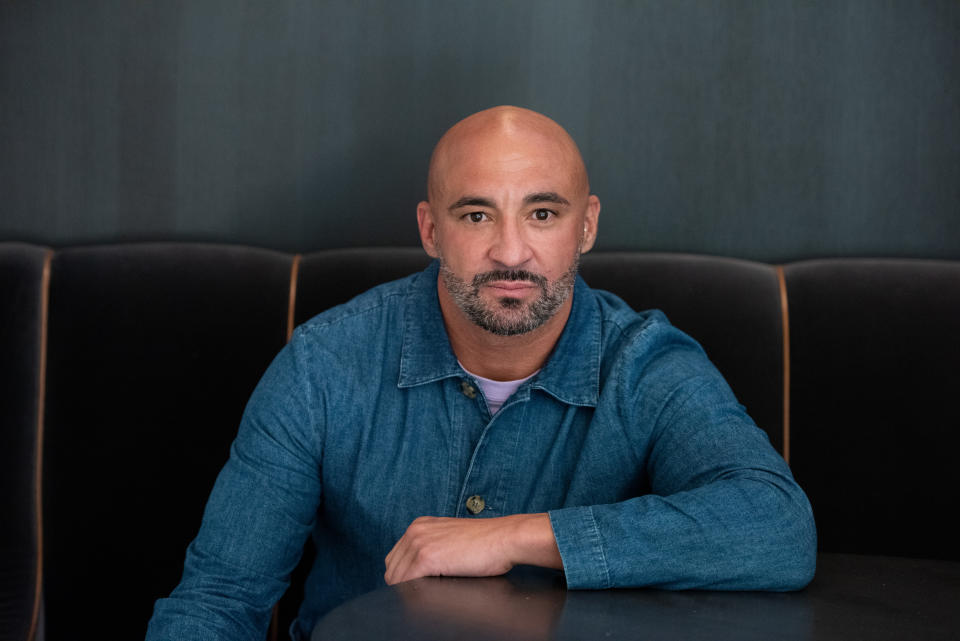
[[[450,348],[434,263],[297,329],[247,405],[147,639],[262,640],[312,535],[292,628],[306,638],[384,584],[416,517],[525,512],[549,512],[570,588],[789,590],[813,576],[806,497],[662,313],[578,278],[550,359],[491,416]]]

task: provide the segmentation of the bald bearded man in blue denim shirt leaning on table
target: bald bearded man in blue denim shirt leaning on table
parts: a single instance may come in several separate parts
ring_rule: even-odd
[[[515,107],[440,140],[423,273],[297,329],[254,392],[148,639],[262,639],[426,575],[772,589],[813,575],[810,506],[700,347],[577,277],[600,202],[573,140]]]

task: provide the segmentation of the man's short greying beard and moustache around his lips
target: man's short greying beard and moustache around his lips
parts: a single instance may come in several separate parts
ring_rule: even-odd
[[[447,266],[440,256],[440,277],[454,303],[475,325],[498,336],[516,336],[531,332],[550,320],[570,297],[577,280],[580,248],[577,248],[570,267],[555,281],[541,274],[522,269],[482,272],[469,283]],[[535,284],[540,294],[530,302],[503,297],[490,302],[480,295],[480,288],[494,281],[523,281]]]

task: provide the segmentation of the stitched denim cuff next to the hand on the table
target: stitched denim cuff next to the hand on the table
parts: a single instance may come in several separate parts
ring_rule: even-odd
[[[550,525],[557,540],[567,587],[602,590],[611,587],[607,557],[592,507],[551,510]]]

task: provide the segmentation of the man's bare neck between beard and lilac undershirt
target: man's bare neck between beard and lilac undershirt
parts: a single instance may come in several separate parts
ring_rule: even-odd
[[[570,317],[573,295],[537,329],[516,336],[498,336],[468,319],[437,283],[440,310],[453,353],[465,369],[495,381],[514,381],[542,368]]]

